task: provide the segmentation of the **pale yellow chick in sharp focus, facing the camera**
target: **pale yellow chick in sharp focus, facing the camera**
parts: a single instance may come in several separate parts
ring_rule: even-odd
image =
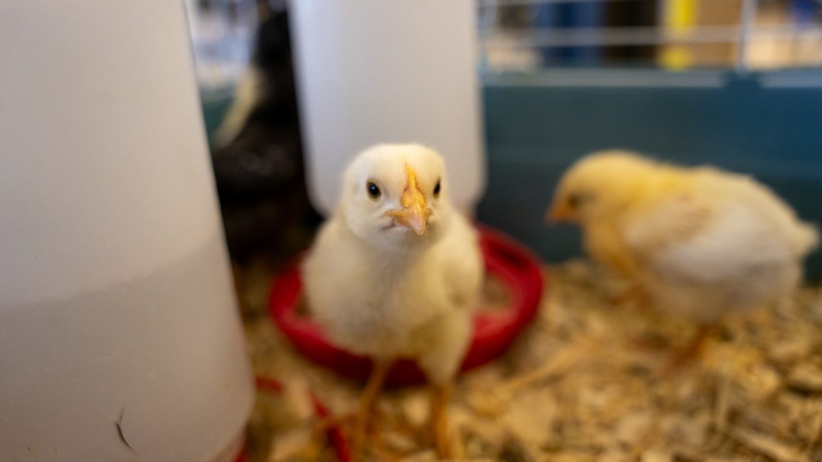
[[[341,193],[303,267],[309,309],[335,344],[374,361],[360,428],[390,364],[413,358],[436,387],[432,424],[446,455],[450,383],[483,280],[478,235],[448,199],[440,155],[424,146],[365,150]]]

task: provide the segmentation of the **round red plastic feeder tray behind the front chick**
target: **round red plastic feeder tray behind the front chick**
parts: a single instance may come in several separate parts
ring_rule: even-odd
[[[539,261],[514,239],[480,226],[480,245],[485,267],[506,287],[510,306],[498,312],[478,312],[474,316],[473,339],[462,370],[481,366],[503,353],[520,330],[536,314],[543,295],[543,275]],[[300,353],[339,374],[364,380],[371,360],[354,356],[331,344],[321,326],[296,312],[302,291],[297,265],[278,275],[271,284],[270,314],[283,334]],[[399,360],[391,368],[389,385],[412,385],[425,381],[423,372],[411,360]]]

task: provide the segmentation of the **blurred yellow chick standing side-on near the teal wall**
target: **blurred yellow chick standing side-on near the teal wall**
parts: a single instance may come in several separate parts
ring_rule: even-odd
[[[700,321],[679,360],[699,351],[724,312],[791,293],[802,259],[818,243],[816,229],[753,178],[618,150],[573,165],[549,218],[579,223],[596,261],[654,305]]]

